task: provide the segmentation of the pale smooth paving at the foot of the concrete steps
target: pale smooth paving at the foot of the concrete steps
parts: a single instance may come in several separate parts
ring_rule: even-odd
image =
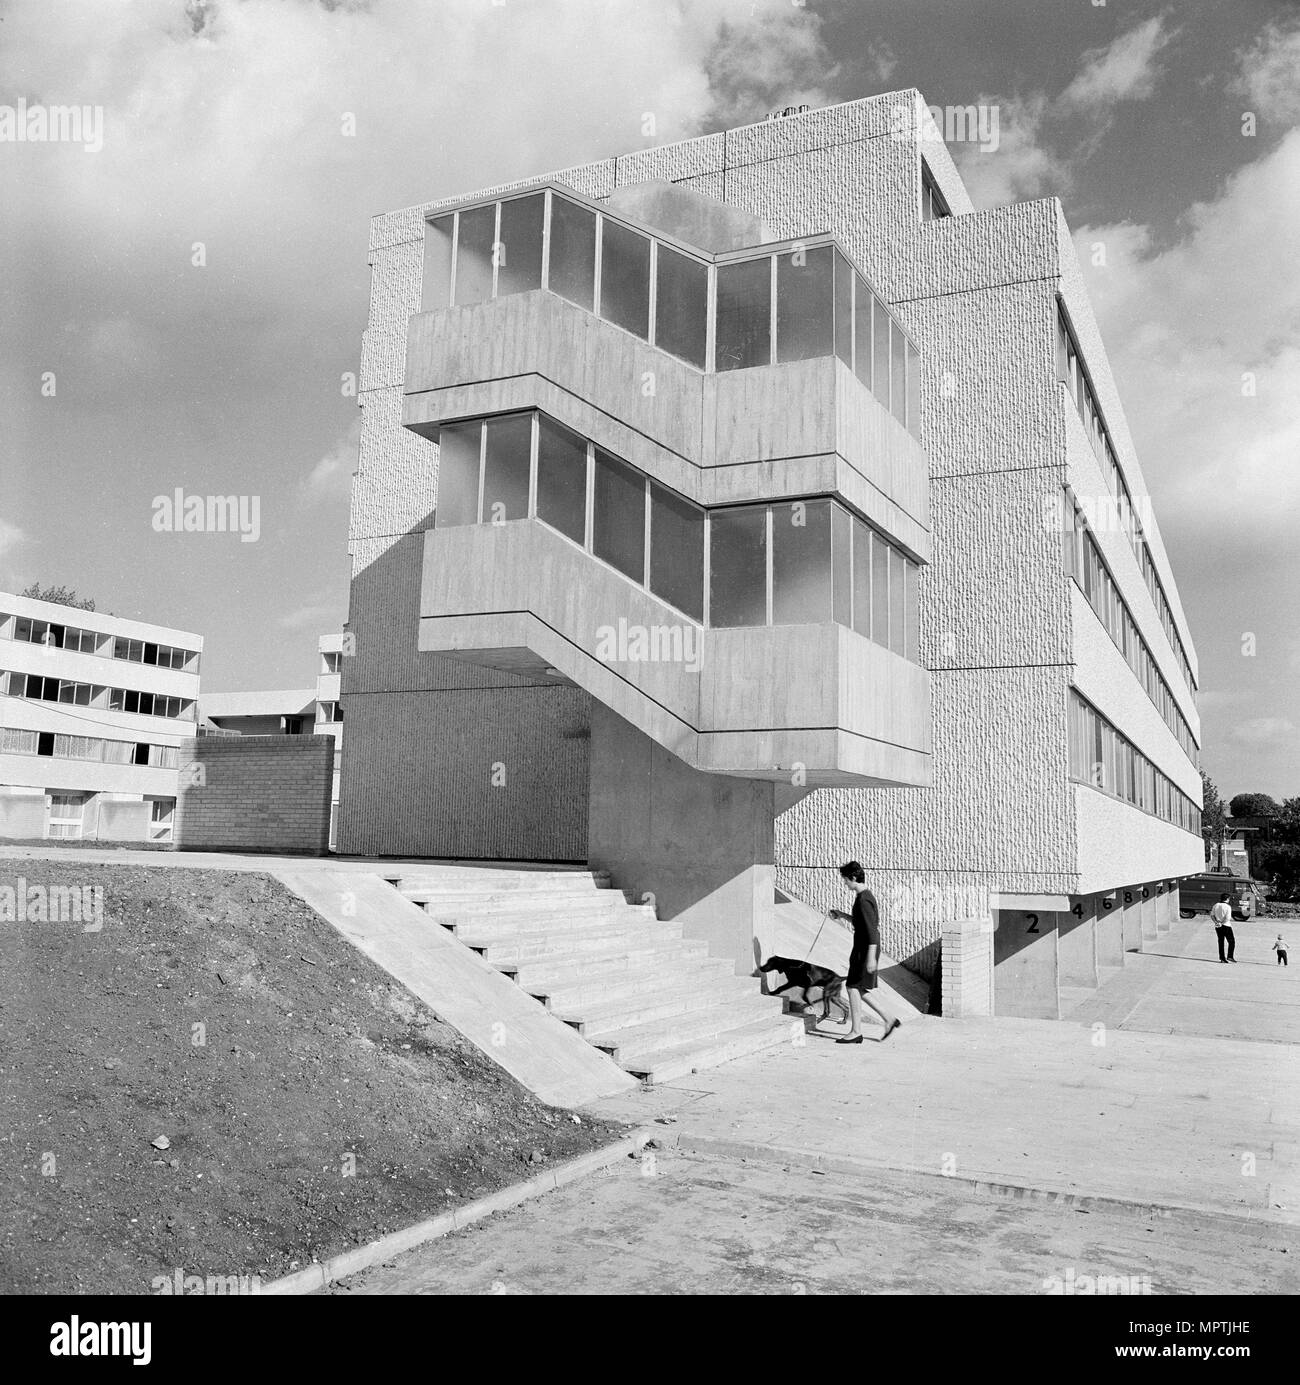
[[[1152,1014],[1171,1003],[1164,990],[1184,985],[1185,965],[1232,988],[1229,1006],[1290,1018],[1270,1021],[1268,1043],[1105,1021],[922,1017],[886,1044],[872,1030],[845,1047],[827,1025],[803,1047],[593,1109],[669,1116],[688,1150],[1300,1224],[1300,1011],[1282,992],[1294,978],[1245,960],[1196,961],[1195,949],[1185,963],[1149,960],[1174,968],[1148,992]],[[1281,1042],[1286,1024],[1290,1043]]]

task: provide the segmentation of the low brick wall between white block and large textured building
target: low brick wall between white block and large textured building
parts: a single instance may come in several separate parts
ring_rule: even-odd
[[[201,735],[180,748],[181,850],[324,855],[332,735]]]

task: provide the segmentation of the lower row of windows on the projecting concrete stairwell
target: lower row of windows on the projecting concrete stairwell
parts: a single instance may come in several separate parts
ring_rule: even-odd
[[[917,564],[838,501],[706,510],[539,410],[444,424],[435,525],[529,517],[701,623],[836,620],[917,658]]]

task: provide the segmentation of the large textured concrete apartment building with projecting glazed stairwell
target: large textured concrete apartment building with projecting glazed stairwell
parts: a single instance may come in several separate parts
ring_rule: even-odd
[[[1196,658],[1055,198],[915,91],[375,217],[345,852],[579,860],[748,972],[864,863],[1056,1017],[1202,867]]]

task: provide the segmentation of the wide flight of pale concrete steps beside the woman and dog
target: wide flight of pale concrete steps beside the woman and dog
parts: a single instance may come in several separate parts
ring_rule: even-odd
[[[429,866],[388,877],[619,1066],[667,1082],[789,1043],[803,1022],[683,925],[588,870]]]

